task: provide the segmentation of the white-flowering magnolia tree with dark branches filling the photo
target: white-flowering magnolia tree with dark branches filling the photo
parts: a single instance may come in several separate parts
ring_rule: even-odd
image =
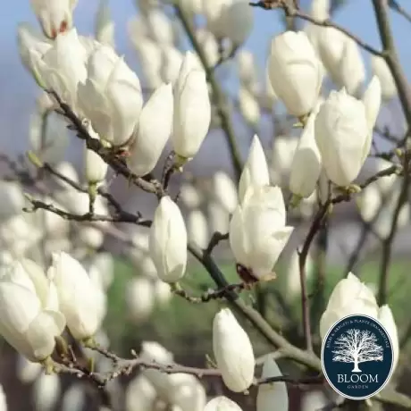
[[[408,222],[409,134],[377,123],[397,99],[411,127],[411,92],[390,25],[392,13],[409,20],[407,12],[373,0],[375,22],[367,24],[376,24],[382,45],[374,48],[333,22],[341,1],[313,0],[304,12],[286,0],[141,0],[128,26],[138,77],[115,50],[107,4],[91,38],[75,27],[76,3],[31,0],[42,33],[24,23],[17,31],[38,107],[27,153],[1,156],[0,334],[19,353],[21,382],[34,382],[35,407],[80,411],[93,398],[100,409],[128,411],[410,408],[398,358],[411,327],[403,324],[398,341],[388,293],[393,240]],[[243,46],[258,24],[256,7],[285,17],[263,74]],[[233,63],[237,96],[219,76]],[[273,127],[263,128],[262,118]],[[241,129],[259,131],[245,161]],[[199,178],[192,166],[216,130],[230,172]],[[82,146],[82,175],[64,161],[69,143]],[[138,202],[114,194],[121,180],[155,210],[140,213]],[[361,234],[327,302],[329,228],[335,214],[344,218],[343,203],[359,211]],[[366,285],[356,266],[368,237],[381,262]],[[292,252],[281,269],[286,246]],[[212,352],[201,366],[179,364],[155,341],[128,356],[110,348],[107,289],[121,275],[114,250],[138,273],[122,313],[136,333],[155,306],[173,300],[188,311],[215,307],[206,324]],[[195,260],[214,287],[189,285]],[[228,266],[237,281],[227,279]],[[395,361],[388,388],[354,403],[329,389],[319,359],[331,325],[351,314],[381,321]],[[2,410],[13,399],[3,391],[0,398]]]

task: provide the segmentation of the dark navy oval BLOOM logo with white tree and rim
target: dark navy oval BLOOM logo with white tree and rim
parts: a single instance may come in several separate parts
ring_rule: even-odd
[[[372,397],[390,380],[390,335],[368,315],[348,315],[325,336],[321,362],[325,378],[340,395],[350,399]]]

